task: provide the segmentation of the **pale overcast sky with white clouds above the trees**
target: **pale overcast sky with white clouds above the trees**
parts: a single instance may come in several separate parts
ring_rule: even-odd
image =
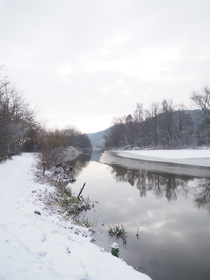
[[[209,83],[210,1],[1,0],[0,64],[50,127],[104,130]]]

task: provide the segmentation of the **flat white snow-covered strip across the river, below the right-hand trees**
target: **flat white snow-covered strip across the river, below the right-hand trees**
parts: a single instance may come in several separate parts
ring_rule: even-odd
[[[116,151],[122,157],[210,167],[210,149]]]

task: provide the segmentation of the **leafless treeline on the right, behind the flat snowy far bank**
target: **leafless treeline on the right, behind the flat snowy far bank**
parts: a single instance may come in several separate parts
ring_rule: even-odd
[[[192,107],[176,105],[172,99],[152,102],[144,109],[136,104],[131,115],[114,118],[106,130],[106,147],[185,148],[210,144],[210,89],[190,95]]]

